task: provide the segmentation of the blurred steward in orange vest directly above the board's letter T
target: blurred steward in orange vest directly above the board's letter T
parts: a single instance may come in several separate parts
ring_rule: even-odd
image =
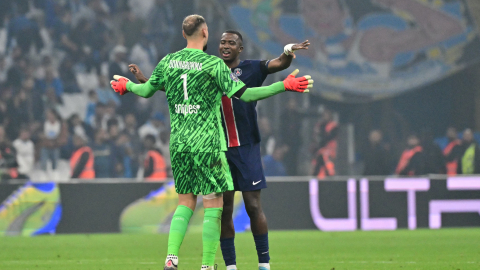
[[[398,161],[395,173],[397,175],[422,175],[425,173],[425,158],[420,139],[417,135],[408,136],[407,149],[403,151]]]

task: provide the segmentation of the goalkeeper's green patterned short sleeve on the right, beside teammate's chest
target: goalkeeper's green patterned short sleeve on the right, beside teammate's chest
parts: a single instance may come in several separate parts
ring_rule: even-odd
[[[212,76],[218,85],[220,91],[231,98],[238,90],[246,87],[245,84],[230,71],[230,68],[220,59],[217,58],[217,64],[213,68]]]

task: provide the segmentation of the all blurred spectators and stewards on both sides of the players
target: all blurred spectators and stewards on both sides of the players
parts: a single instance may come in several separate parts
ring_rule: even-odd
[[[55,175],[61,160],[69,160],[72,178],[171,176],[165,99],[120,98],[109,78],[118,74],[134,80],[128,63],[150,74],[159,59],[181,49],[184,41],[175,26],[193,13],[186,7],[194,1],[188,2],[0,1],[2,179],[28,179],[39,171],[45,179],[59,180],[64,177]],[[297,108],[295,99],[287,102],[278,130],[260,114],[267,176],[300,173],[297,119],[305,113]],[[333,176],[339,125],[329,110],[313,117],[318,121],[308,143],[309,173]],[[434,143],[428,133],[412,134],[397,159],[374,130],[362,153],[364,174],[480,173],[472,131],[464,132],[463,141],[458,137],[453,128],[446,142]]]

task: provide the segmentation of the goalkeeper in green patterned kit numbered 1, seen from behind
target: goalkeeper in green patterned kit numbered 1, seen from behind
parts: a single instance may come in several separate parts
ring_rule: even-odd
[[[164,270],[178,267],[178,251],[202,194],[203,259],[201,269],[213,269],[220,241],[222,193],[233,190],[225,157],[220,105],[223,93],[229,98],[251,102],[285,92],[305,93],[313,87],[310,76],[295,78],[294,71],[283,82],[266,87],[246,88],[222,59],[204,53],[208,41],[205,19],[190,15],[183,21],[187,47],[165,56],[144,84],[114,76],[111,86],[120,95],[133,92],[149,98],[165,91],[171,119],[170,154],[179,205],[173,215]]]

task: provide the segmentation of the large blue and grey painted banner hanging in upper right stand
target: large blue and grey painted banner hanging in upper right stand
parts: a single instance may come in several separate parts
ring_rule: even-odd
[[[308,39],[294,65],[337,101],[390,97],[480,60],[466,0],[239,0],[229,12],[247,42],[272,55]]]

